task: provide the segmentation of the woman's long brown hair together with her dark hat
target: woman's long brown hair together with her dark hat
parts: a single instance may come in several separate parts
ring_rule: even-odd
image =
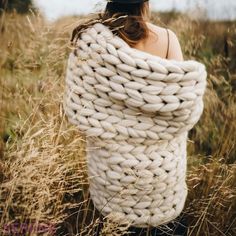
[[[148,11],[148,3],[122,4],[108,2],[104,13],[96,19],[89,20],[73,30],[71,42],[78,40],[82,31],[96,22],[108,26],[113,33],[125,40],[130,46],[136,45],[141,39],[148,36],[148,27],[144,16]]]

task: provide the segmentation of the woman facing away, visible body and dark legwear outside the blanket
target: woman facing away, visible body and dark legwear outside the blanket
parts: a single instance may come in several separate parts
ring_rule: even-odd
[[[73,31],[71,41],[78,38],[83,29],[100,20],[131,47],[161,58],[182,61],[183,55],[175,33],[150,23],[149,15],[147,0],[111,0],[98,19],[90,20]],[[96,229],[96,235],[101,232],[101,226],[102,222]],[[175,223],[170,222],[165,226],[162,230],[130,227],[129,231],[133,232],[130,235],[147,235],[147,231],[149,235],[186,235],[187,227],[183,216],[179,216]]]

